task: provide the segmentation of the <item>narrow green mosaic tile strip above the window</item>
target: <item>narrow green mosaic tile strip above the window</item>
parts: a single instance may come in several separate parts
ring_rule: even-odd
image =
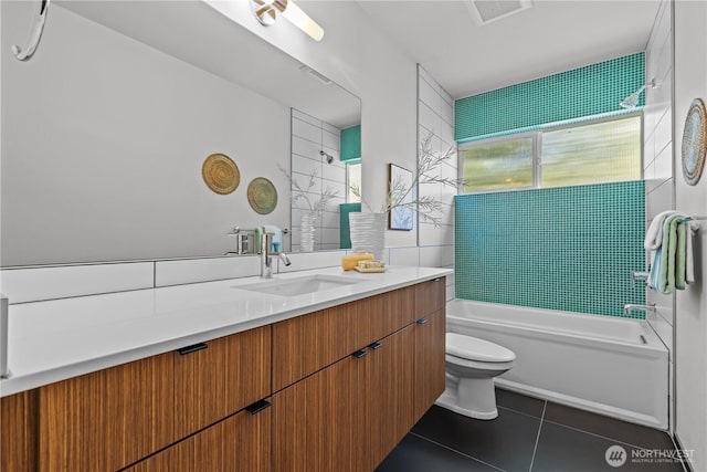
[[[622,99],[645,83],[643,52],[536,78],[454,105],[457,143],[585,116],[621,111]],[[644,105],[641,94],[639,106]]]

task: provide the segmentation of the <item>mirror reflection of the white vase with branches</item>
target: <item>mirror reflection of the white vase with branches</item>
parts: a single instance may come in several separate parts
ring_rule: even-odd
[[[285,178],[289,180],[292,208],[303,210],[299,224],[299,250],[302,252],[314,251],[315,221],[321,217],[321,212],[338,196],[338,191],[329,186],[320,192],[315,189],[318,176],[317,169],[313,169],[307,175],[306,186],[303,186],[284,167],[279,165],[277,167],[285,175]]]

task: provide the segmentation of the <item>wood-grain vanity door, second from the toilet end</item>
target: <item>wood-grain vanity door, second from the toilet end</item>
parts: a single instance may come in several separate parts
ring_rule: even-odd
[[[374,470],[413,427],[414,326],[409,325],[370,349],[368,408],[370,460]]]

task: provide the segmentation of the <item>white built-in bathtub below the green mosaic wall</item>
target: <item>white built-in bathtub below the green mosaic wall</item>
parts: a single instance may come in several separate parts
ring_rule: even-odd
[[[446,322],[516,353],[502,388],[667,429],[668,352],[644,321],[457,298]]]

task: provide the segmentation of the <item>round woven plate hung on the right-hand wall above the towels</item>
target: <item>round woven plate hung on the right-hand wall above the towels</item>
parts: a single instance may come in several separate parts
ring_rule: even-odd
[[[683,132],[683,176],[690,186],[696,185],[705,167],[707,149],[707,113],[705,103],[695,98],[685,118]]]

